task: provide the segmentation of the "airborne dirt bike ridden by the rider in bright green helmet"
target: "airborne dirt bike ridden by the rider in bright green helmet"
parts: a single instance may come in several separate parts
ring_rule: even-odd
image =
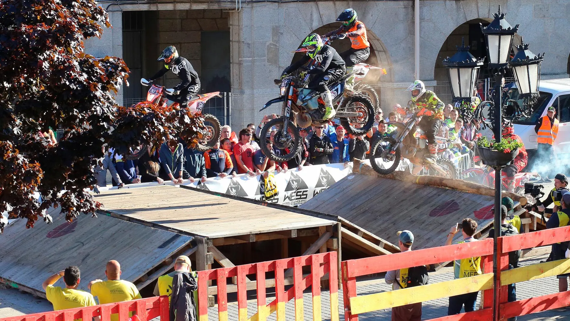
[[[352,73],[344,75],[328,87],[331,88],[333,107],[336,110],[335,118],[340,120],[340,124],[348,133],[363,135],[374,124],[374,106],[365,95],[358,93],[348,97],[343,95],[345,80],[351,75]],[[304,88],[309,76],[306,71],[297,70],[282,80],[276,79],[275,84],[279,84],[281,95],[267,101],[260,109],[263,111],[275,103],[283,105],[281,116],[268,121],[260,133],[259,145],[271,160],[283,162],[295,157],[302,144],[298,126],[305,128],[311,124],[328,123],[328,120],[322,120],[325,108],[324,101],[320,97],[321,93],[311,88]],[[356,128],[354,125],[356,123],[363,126]],[[275,155],[275,151],[267,148],[267,134],[272,129],[277,129],[273,144],[282,151],[280,155]]]

